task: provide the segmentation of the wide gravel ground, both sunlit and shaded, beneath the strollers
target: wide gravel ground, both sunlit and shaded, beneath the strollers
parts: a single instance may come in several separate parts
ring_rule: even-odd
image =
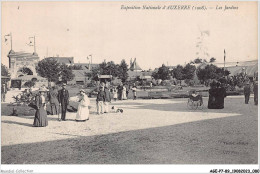
[[[124,113],[32,127],[2,116],[2,164],[257,164],[257,106],[227,97],[225,109],[191,111],[187,99],[115,102]],[[204,100],[207,103],[207,98]],[[206,104],[207,105],[207,104]]]

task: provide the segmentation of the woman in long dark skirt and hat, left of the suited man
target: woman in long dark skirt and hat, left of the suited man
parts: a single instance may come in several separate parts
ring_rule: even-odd
[[[36,109],[34,122],[33,122],[34,127],[46,127],[46,126],[48,126],[44,92],[46,92],[46,90],[44,88],[40,88],[39,95],[37,95],[35,97],[37,109]]]

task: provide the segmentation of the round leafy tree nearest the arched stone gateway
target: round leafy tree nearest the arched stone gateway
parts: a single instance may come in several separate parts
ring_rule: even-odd
[[[43,59],[38,62],[36,71],[41,77],[45,77],[49,82],[58,82],[60,74],[60,64],[54,59]]]

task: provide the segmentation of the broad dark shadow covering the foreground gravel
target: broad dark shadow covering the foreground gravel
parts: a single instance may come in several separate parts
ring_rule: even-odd
[[[73,138],[2,146],[2,164],[257,164],[257,116],[62,135]]]

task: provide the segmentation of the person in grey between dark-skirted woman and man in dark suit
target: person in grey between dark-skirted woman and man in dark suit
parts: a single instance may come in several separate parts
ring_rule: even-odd
[[[59,101],[58,101],[58,89],[53,86],[49,92],[49,100],[51,105],[51,114],[58,115],[59,112]]]

